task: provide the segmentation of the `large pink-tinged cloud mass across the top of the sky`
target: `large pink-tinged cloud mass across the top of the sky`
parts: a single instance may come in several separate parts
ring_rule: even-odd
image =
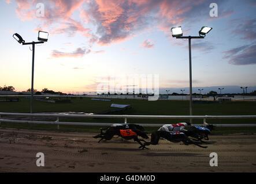
[[[35,17],[36,3],[44,3],[45,17],[39,18],[39,27],[51,33],[79,33],[90,43],[108,45],[131,39],[136,33],[157,22],[157,28],[169,31],[171,26],[196,20],[209,14],[206,1],[179,0],[16,0],[17,15],[21,20]],[[216,0],[221,4],[220,0]],[[73,14],[79,13],[74,20]],[[227,12],[228,13],[228,12]],[[95,26],[92,31],[87,24]],[[45,30],[44,29],[44,30]]]

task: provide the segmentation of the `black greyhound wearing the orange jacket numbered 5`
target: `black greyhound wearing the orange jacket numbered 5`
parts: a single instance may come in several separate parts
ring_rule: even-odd
[[[146,143],[146,141],[139,139],[138,136],[144,139],[149,139],[149,137],[147,136],[147,133],[145,132],[144,128],[136,124],[113,124],[112,126],[107,127],[105,129],[101,128],[101,133],[99,133],[99,135],[97,136],[94,136],[94,138],[101,138],[98,141],[99,143],[103,139],[111,140],[114,135],[120,136],[125,140],[133,139],[134,141],[137,141],[140,144],[139,149],[148,149],[145,147],[146,145],[142,144],[141,142],[143,141],[144,143]]]

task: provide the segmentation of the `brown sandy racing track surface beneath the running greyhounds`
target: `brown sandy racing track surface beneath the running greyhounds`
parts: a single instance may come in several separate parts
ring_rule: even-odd
[[[139,144],[93,139],[92,133],[0,129],[0,172],[255,172],[256,135],[210,136],[208,148],[159,141]],[[36,166],[43,152],[45,166]],[[209,155],[218,154],[218,167]]]

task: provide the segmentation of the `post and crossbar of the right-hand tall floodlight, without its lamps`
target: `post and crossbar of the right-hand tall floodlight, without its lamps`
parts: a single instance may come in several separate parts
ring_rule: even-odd
[[[204,39],[203,36],[179,36],[176,39],[188,39],[188,52],[189,52],[189,59],[190,59],[190,116],[193,114],[193,107],[192,107],[192,58],[191,58],[191,39]],[[190,123],[192,124],[192,119],[190,119]]]

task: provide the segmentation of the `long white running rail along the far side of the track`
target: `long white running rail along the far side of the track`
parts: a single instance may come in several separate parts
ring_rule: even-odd
[[[16,117],[55,117],[56,121],[33,121],[33,120],[9,120],[3,116],[16,116]],[[60,118],[122,118],[124,124],[128,119],[201,119],[206,122],[207,119],[256,119],[256,115],[244,116],[145,116],[145,115],[100,115],[100,114],[30,114],[30,113],[0,113],[1,122],[17,122],[17,123],[30,123],[30,124],[55,124],[57,128],[60,125],[83,125],[83,126],[109,126],[113,123],[106,122],[61,122]],[[117,122],[120,123],[120,122]],[[139,124],[144,127],[161,127],[163,124]],[[216,127],[256,127],[256,124],[214,124]]]

